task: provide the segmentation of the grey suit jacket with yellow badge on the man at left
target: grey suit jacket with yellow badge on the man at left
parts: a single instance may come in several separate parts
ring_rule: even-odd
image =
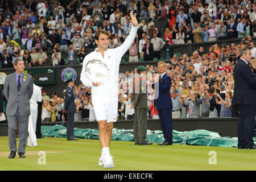
[[[31,75],[23,73],[19,93],[15,73],[8,75],[3,85],[3,93],[7,100],[6,115],[15,115],[18,106],[20,115],[30,115],[30,98],[33,94],[33,78]]]

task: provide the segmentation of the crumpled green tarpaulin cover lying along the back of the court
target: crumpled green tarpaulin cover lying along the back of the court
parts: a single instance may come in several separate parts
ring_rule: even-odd
[[[41,126],[43,137],[67,137],[67,128],[62,125]],[[218,133],[207,130],[172,131],[174,144],[188,144],[197,146],[237,147],[237,137],[221,137]],[[74,129],[76,138],[98,139],[97,129]],[[147,141],[161,143],[164,141],[160,130],[147,130]],[[256,138],[254,143],[256,144]],[[133,130],[113,129],[112,140],[134,142]]]

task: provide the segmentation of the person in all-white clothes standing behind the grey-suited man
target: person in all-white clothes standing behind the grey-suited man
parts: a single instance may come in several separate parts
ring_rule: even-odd
[[[33,73],[28,73],[35,80]],[[28,139],[27,145],[30,147],[38,146],[36,143],[36,121],[38,119],[38,102],[42,101],[42,92],[39,86],[33,84],[33,94],[30,98],[30,116],[28,118]]]

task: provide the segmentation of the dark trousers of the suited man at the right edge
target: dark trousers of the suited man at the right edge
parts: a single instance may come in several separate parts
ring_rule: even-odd
[[[256,105],[239,105],[238,147],[254,146],[255,107]]]

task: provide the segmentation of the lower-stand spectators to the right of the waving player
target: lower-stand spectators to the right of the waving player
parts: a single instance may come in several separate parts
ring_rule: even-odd
[[[214,44],[209,50],[200,47],[191,56],[174,55],[166,64],[167,75],[171,77],[170,97],[173,118],[238,117],[238,108],[232,104],[234,93],[233,68],[244,48],[254,48],[254,43],[228,44],[221,48]],[[253,48],[251,51],[253,52]],[[250,62],[256,74],[256,59]],[[154,90],[151,88],[153,74],[158,73],[154,65],[147,65],[148,118],[159,118],[154,107]],[[133,118],[130,96],[137,69],[127,70],[119,77],[119,117]]]

